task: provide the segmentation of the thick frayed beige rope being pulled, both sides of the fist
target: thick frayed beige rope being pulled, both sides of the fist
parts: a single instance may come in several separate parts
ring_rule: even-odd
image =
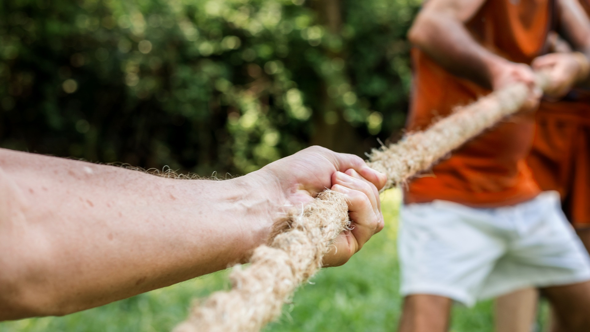
[[[545,89],[548,78],[537,74]],[[528,95],[524,84],[482,97],[458,108],[425,131],[408,134],[398,144],[373,149],[367,164],[385,173],[383,190],[405,183],[418,172],[450,154],[506,116],[517,112]],[[195,305],[174,332],[257,332],[281,314],[296,288],[322,266],[322,257],[333,240],[349,227],[343,196],[326,190],[299,213],[278,220],[280,229],[268,245],[254,250],[247,268],[230,275],[232,289],[212,294]]]

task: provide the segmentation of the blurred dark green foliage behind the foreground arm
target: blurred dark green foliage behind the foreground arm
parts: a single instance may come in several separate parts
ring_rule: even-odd
[[[5,0],[0,147],[245,173],[404,125],[418,0]]]

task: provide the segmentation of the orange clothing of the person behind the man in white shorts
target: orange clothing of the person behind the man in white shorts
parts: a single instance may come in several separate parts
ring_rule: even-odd
[[[590,15],[590,0],[580,0]],[[542,190],[557,190],[575,227],[590,226],[590,89],[563,100],[542,100],[527,163]]]

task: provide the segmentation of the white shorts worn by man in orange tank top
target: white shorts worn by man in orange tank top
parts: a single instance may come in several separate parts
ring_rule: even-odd
[[[401,294],[468,306],[525,287],[590,280],[590,258],[546,191],[514,206],[476,209],[450,201],[402,206]]]

